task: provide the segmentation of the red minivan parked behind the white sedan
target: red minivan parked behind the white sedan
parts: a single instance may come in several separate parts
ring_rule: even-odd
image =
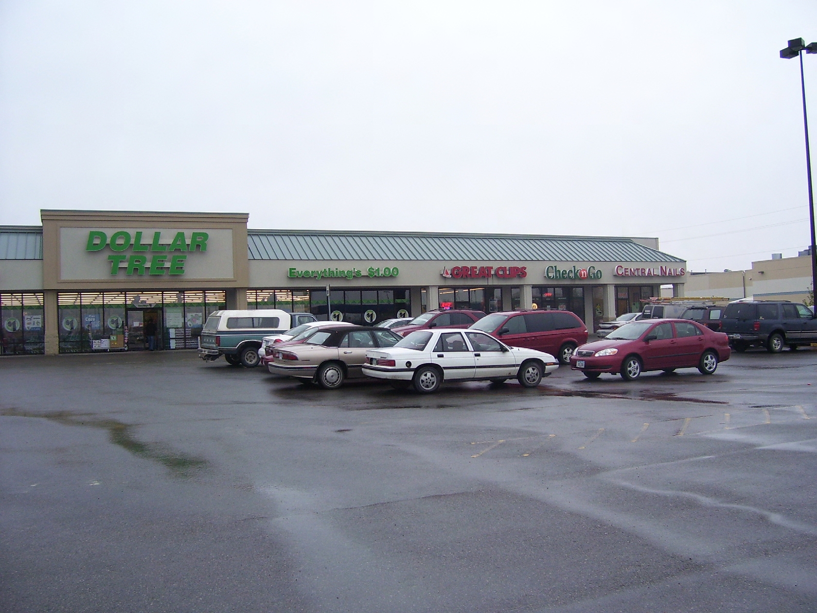
[[[587,342],[587,326],[570,311],[502,311],[471,326],[499,338],[511,347],[537,349],[569,364],[576,347]]]

